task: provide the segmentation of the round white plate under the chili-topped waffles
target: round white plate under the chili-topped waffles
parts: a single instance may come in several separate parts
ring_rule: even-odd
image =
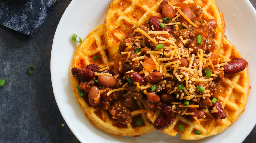
[[[256,71],[255,45],[256,12],[249,0],[217,0],[226,21],[226,35],[238,48],[249,63],[250,96],[244,113],[231,127],[224,132],[199,141],[185,141],[179,135],[172,137],[154,131],[140,137],[116,137],[89,123],[73,95],[69,70],[73,54],[78,45],[71,40],[75,33],[82,39],[103,23],[105,12],[111,0],[73,0],[64,12],[57,27],[51,53],[51,78],[53,92],[59,110],[67,125],[81,142],[207,142],[207,143],[240,143],[251,132],[256,123],[255,114],[255,81]],[[89,24],[90,23],[90,24]]]

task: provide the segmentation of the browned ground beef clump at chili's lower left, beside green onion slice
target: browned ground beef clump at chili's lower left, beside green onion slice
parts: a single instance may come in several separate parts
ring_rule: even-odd
[[[118,118],[118,120],[123,124],[130,124],[132,122],[132,117],[130,111],[127,107],[121,105],[120,103],[114,103],[109,110],[112,116]]]

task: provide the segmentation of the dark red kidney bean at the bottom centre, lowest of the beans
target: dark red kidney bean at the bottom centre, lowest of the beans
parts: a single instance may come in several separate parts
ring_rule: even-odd
[[[162,115],[160,115],[154,122],[154,128],[157,130],[162,130],[169,126],[176,118],[175,112],[172,110],[170,105],[165,105],[163,107]]]

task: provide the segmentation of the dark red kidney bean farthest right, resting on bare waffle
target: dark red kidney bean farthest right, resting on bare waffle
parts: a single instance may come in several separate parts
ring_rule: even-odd
[[[247,62],[243,58],[234,58],[231,61],[227,62],[227,65],[222,66],[224,68],[224,73],[226,74],[235,74],[240,71],[243,71],[247,66]]]

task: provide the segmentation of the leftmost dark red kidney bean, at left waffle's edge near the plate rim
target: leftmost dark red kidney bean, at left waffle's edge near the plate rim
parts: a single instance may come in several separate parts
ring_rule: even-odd
[[[77,67],[73,67],[71,69],[71,74],[73,77],[75,77],[75,79],[83,81],[90,81],[95,77],[94,72],[91,69],[83,69]]]

